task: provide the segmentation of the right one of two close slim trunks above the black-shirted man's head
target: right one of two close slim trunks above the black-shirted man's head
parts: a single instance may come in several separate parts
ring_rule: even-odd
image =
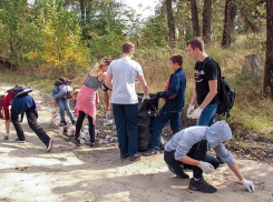
[[[212,19],[212,0],[204,0],[203,11],[203,40],[204,43],[211,41],[211,19]]]

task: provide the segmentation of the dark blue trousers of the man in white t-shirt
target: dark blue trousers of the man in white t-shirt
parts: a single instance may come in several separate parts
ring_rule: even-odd
[[[113,113],[117,127],[120,155],[137,153],[137,110],[138,104],[114,104]]]

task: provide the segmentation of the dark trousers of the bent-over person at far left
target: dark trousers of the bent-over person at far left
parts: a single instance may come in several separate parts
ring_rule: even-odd
[[[26,111],[26,115],[28,119],[29,128],[39,137],[39,139],[47,145],[50,138],[47,135],[45,130],[37,122],[37,113],[35,111],[35,107],[29,108]],[[16,129],[17,135],[19,140],[26,140],[21,123],[19,121],[19,113],[11,108],[11,122]]]

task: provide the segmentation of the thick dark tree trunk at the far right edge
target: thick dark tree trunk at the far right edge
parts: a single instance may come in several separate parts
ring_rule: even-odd
[[[263,97],[273,99],[273,0],[266,0],[266,52]]]

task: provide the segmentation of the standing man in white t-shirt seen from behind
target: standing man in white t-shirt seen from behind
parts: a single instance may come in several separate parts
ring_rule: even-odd
[[[149,98],[143,69],[138,62],[131,60],[134,52],[134,43],[123,43],[123,57],[110,63],[105,80],[106,87],[113,89],[111,104],[117,127],[120,159],[129,156],[131,161],[139,156],[137,153],[138,99],[135,89],[136,79],[144,91],[143,99]]]

